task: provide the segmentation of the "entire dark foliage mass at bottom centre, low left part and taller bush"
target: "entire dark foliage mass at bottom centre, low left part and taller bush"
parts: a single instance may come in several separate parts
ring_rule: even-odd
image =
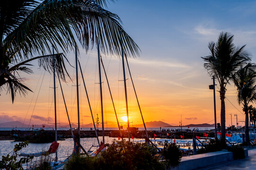
[[[67,170],[164,170],[157,149],[145,143],[113,140],[97,157],[73,156]]]

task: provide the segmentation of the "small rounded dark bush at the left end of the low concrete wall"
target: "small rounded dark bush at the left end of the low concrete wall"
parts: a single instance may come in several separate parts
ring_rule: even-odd
[[[162,149],[162,153],[168,165],[172,167],[176,167],[179,165],[181,161],[181,151],[177,144],[168,144],[168,142],[165,142],[164,148]]]

